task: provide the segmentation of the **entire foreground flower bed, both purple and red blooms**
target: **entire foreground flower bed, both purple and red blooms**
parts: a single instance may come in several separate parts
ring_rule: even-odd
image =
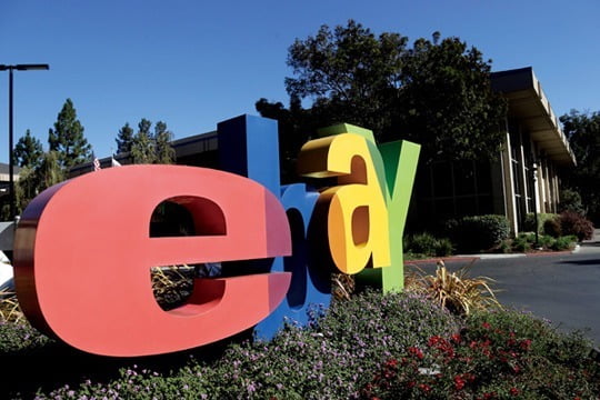
[[[128,361],[111,379],[86,376],[39,389],[37,399],[596,399],[598,363],[578,332],[516,311],[453,317],[422,297],[364,291],[316,307],[308,328],[290,321],[270,342],[233,342],[220,357],[196,351]],[[7,324],[8,326],[8,324]],[[16,330],[17,336],[30,334]],[[4,332],[2,332],[4,333]],[[39,337],[39,334],[38,334]],[[12,346],[12,344],[11,344]],[[3,351],[6,349],[1,349]],[[52,362],[56,363],[53,354]],[[186,362],[173,362],[179,359]],[[114,361],[117,360],[117,361]],[[107,368],[107,367],[104,367]],[[48,372],[40,370],[39,373]],[[33,382],[31,374],[22,377]],[[39,379],[39,377],[37,377]],[[50,380],[50,382],[52,382]],[[6,384],[4,384],[6,387]],[[7,393],[3,398],[32,398]],[[31,394],[31,396],[27,396]]]

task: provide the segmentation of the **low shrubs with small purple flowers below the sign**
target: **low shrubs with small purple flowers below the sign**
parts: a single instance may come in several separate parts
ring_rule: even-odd
[[[172,373],[133,366],[108,383],[63,386],[38,399],[357,398],[386,359],[460,329],[454,317],[422,297],[371,290],[334,301],[327,312],[316,307],[311,316],[309,328],[290,321],[272,341],[232,344],[216,362],[192,358]]]

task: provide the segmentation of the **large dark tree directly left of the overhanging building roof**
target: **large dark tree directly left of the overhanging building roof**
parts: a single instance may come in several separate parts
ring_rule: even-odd
[[[496,159],[504,139],[500,123],[507,102],[492,91],[491,61],[458,38],[440,42],[438,33],[433,37],[433,42],[417,40],[403,54],[397,131],[421,143],[430,160]]]

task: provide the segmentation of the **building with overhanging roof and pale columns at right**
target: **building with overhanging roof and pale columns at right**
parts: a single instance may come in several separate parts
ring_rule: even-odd
[[[518,233],[528,213],[558,211],[559,172],[576,167],[558,117],[531,68],[494,72],[491,80],[508,101],[498,160],[420,166],[413,226],[493,213],[506,216]]]

